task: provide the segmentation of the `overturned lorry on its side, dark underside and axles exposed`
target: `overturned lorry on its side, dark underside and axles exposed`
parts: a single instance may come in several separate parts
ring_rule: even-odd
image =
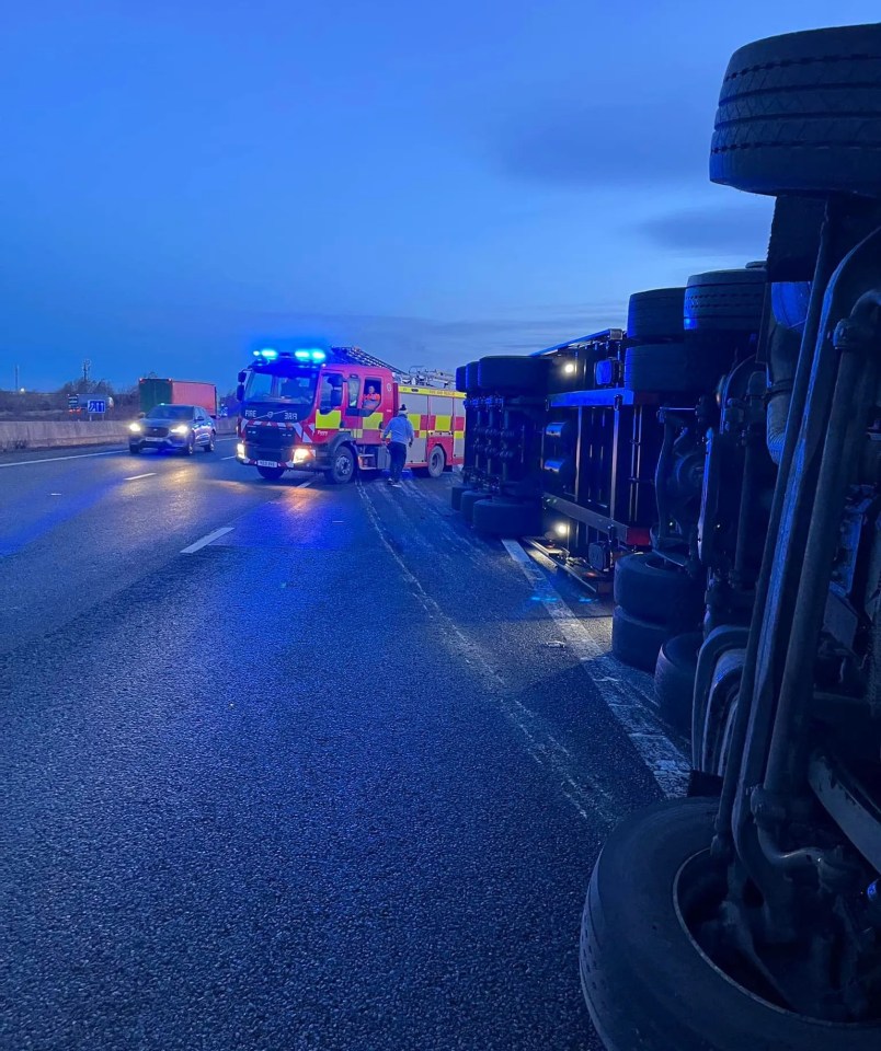
[[[611,575],[616,652],[656,660],[675,685],[667,714],[690,734],[690,798],[628,818],[591,879],[581,978],[606,1046],[869,1051],[881,1047],[881,25],[735,53],[710,173],[777,198],[767,259],[639,293],[620,338],[551,348],[542,409],[526,417],[531,488],[506,494],[466,453],[458,499],[476,526],[495,500],[531,507],[514,524],[539,515],[539,536],[549,515],[561,533],[579,522],[565,556]],[[467,404],[514,396],[478,385]],[[605,523],[602,508],[582,513],[585,464],[618,500]],[[621,500],[616,477],[640,499]]]

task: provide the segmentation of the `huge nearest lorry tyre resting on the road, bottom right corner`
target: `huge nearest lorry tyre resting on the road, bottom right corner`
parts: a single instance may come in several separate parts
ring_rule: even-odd
[[[676,799],[631,815],[597,861],[581,926],[581,986],[614,1051],[870,1051],[877,1025],[774,1006],[703,955],[690,926],[720,894],[709,858],[718,804]]]

